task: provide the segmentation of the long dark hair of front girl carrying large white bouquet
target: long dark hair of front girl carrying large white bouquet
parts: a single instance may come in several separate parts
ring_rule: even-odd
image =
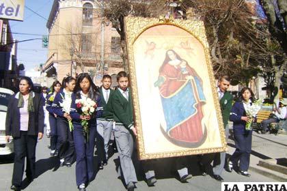
[[[88,97],[91,98],[92,100],[97,100],[98,96],[100,96],[100,91],[98,91],[98,87],[96,87],[91,76],[87,73],[79,74],[77,78],[76,87],[74,88],[74,92],[79,93],[79,91],[81,91],[80,83],[83,81],[84,78],[87,78],[87,80],[89,80],[90,82]]]

